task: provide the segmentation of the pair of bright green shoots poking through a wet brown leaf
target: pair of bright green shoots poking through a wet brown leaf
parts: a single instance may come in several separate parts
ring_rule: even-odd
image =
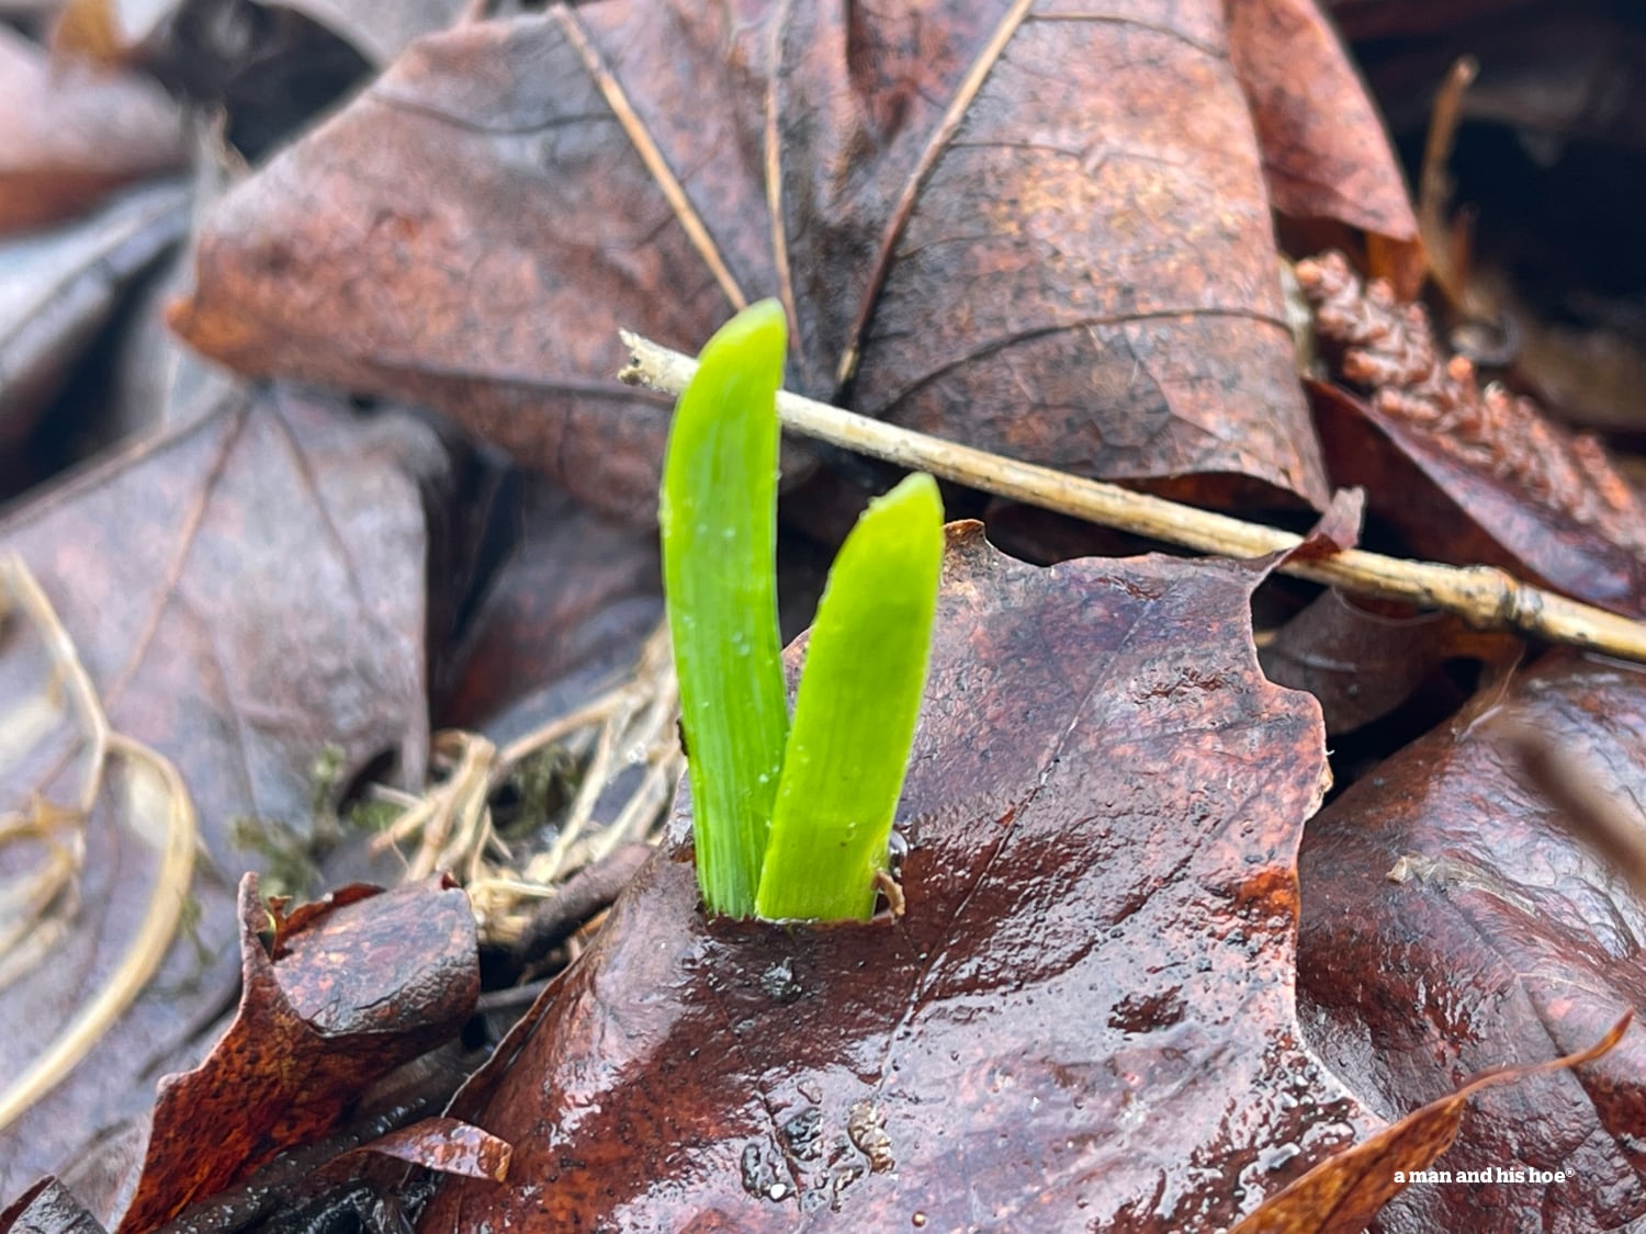
[[[785,342],[775,301],[709,339],[663,467],[663,591],[698,885],[713,913],[864,920],[925,691],[943,505],[930,476],[910,476],[853,528],[818,605],[790,729],[775,551]]]

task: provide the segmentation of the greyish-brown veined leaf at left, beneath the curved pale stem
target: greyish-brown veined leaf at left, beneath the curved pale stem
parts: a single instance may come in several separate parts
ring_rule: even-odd
[[[267,392],[0,523],[0,548],[31,566],[114,727],[178,765],[216,869],[244,869],[250,856],[230,844],[237,816],[309,834],[313,767],[328,744],[342,750],[344,780],[385,752],[423,765],[418,482],[443,466],[439,444],[408,420],[360,421],[332,401]],[[0,696],[0,714],[33,696]],[[18,987],[0,1004],[7,1074],[95,989],[151,890],[142,834],[99,814],[87,837],[79,900],[69,902],[74,939],[59,949],[51,995]],[[194,895],[201,938],[232,938],[226,888],[201,879]],[[145,1068],[198,1061],[174,1051],[196,1050],[186,1045],[194,1022],[214,1014],[232,979],[232,953],[202,956],[179,938],[161,969],[171,997],[138,1000],[0,1137],[0,1193],[61,1170],[92,1134],[146,1109]]]

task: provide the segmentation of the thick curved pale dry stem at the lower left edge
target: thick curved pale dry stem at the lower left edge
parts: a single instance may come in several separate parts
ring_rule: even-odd
[[[165,791],[166,841],[160,854],[160,869],[155,872],[155,890],[148,897],[148,910],[137,925],[119,967],[109,974],[109,979],[97,987],[92,999],[81,1007],[79,1014],[51,1040],[46,1050],[12,1081],[5,1093],[0,1093],[0,1129],[15,1122],[18,1116],[51,1091],[142,994],[171,946],[171,936],[176,933],[189,897],[198,826],[194,803],[189,800],[183,777],[165,755],[119,732],[107,734],[107,749],[128,763],[146,765]],[[142,808],[142,803],[133,808]]]

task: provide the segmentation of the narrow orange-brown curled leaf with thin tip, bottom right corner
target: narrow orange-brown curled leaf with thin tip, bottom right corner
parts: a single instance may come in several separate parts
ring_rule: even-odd
[[[1427,1171],[1452,1145],[1470,1097],[1496,1084],[1513,1084],[1600,1058],[1623,1038],[1631,1014],[1625,1014],[1610,1033],[1582,1053],[1529,1066],[1496,1068],[1468,1081],[1457,1093],[1430,1101],[1365,1144],[1317,1165],[1281,1195],[1266,1199],[1231,1234],[1360,1234],[1407,1183],[1424,1181],[1409,1175]],[[1513,1183],[1516,1168],[1500,1168],[1486,1181]],[[1519,1181],[1524,1183],[1526,1178]]]

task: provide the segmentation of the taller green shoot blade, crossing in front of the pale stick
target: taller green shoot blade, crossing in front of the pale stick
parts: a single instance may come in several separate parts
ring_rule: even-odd
[[[788,735],[777,635],[777,390],[783,311],[716,331],[680,397],[663,462],[663,594],[680,678],[698,882],[749,916]]]

